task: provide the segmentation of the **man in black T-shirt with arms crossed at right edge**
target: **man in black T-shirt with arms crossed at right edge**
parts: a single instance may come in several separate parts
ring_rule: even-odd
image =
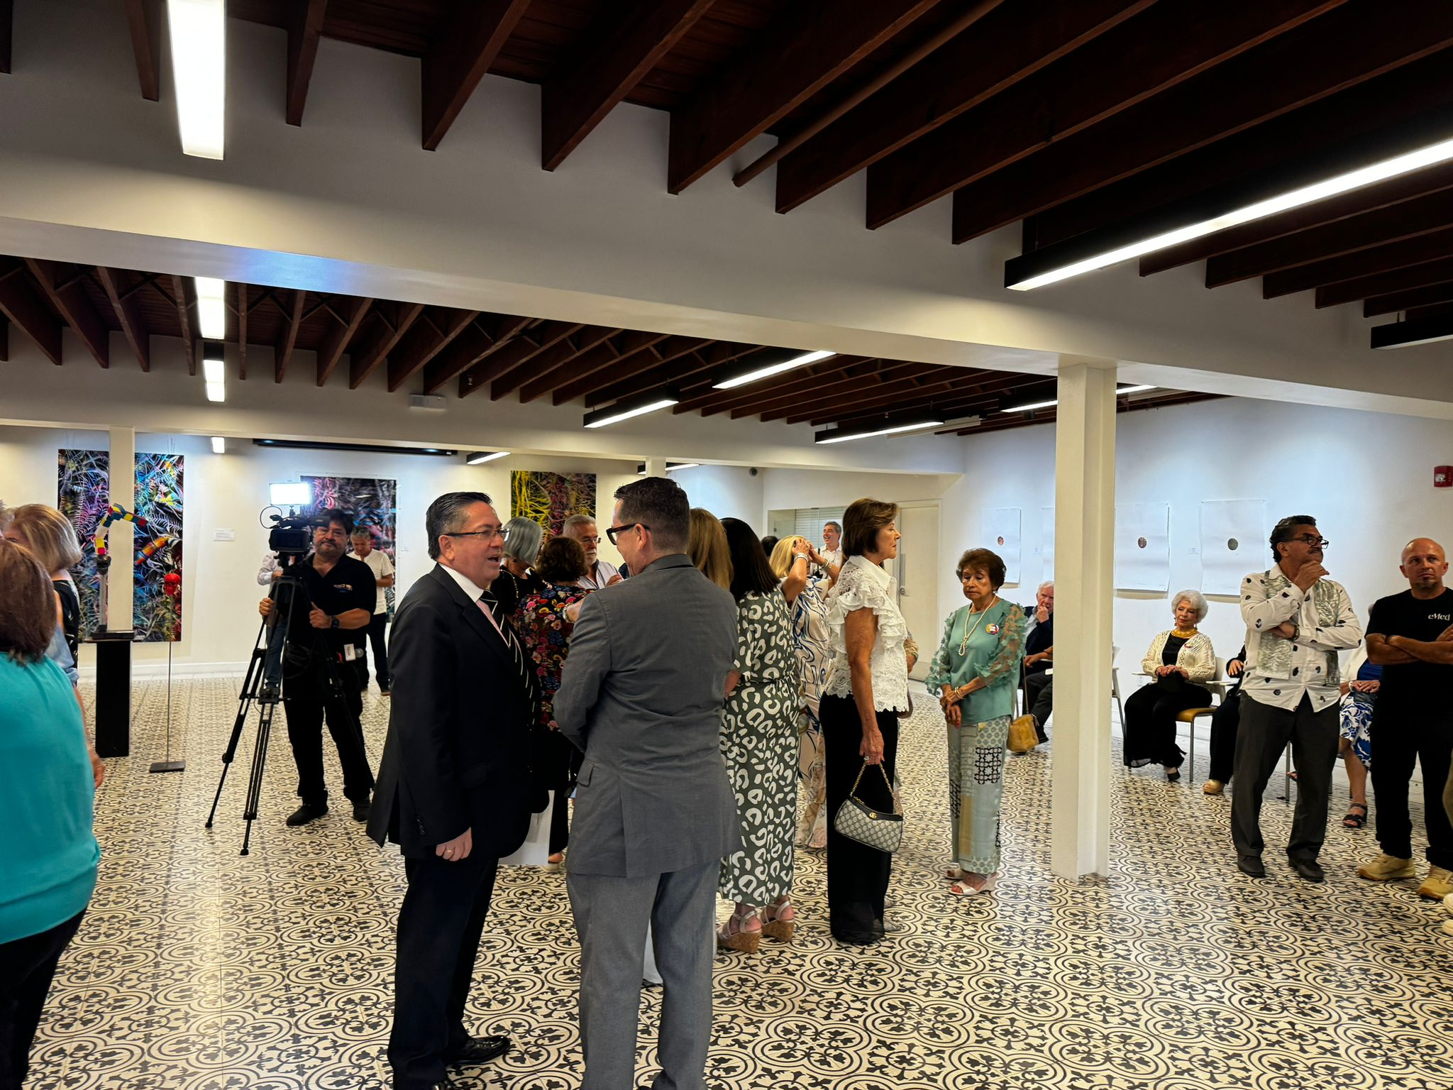
[[[1373,882],[1415,876],[1408,785],[1422,762],[1422,820],[1428,828],[1428,878],[1420,897],[1453,892],[1453,827],[1443,785],[1453,753],[1453,590],[1443,586],[1449,562],[1430,538],[1402,549],[1409,589],[1379,599],[1367,621],[1367,658],[1382,666],[1372,718],[1372,788],[1377,801],[1382,855],[1357,868]]]

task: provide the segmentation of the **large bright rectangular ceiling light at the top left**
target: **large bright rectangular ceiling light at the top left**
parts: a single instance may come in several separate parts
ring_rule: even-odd
[[[167,26],[182,151],[199,158],[222,158],[227,4],[224,0],[167,0]]]

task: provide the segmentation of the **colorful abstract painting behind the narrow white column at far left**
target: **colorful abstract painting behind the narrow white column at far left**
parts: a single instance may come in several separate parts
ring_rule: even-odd
[[[137,455],[137,491],[124,506],[147,519],[150,526],[145,533],[135,530],[135,552],[128,558],[135,577],[132,626],[145,642],[182,638],[182,455]],[[81,638],[100,626],[96,528],[109,506],[110,455],[106,451],[60,451],[57,507],[70,519],[81,544],[81,562],[71,568],[81,599]],[[147,546],[163,538],[142,557]]]

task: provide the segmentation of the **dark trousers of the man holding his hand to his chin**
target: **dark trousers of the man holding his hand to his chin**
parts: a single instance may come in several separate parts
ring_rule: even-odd
[[[1316,859],[1327,839],[1327,799],[1332,791],[1338,737],[1335,701],[1316,712],[1308,696],[1295,711],[1242,698],[1241,728],[1237,731],[1237,789],[1231,794],[1231,843],[1237,846],[1237,855],[1258,856],[1266,847],[1261,839],[1261,794],[1290,741],[1298,776],[1296,812],[1286,853],[1293,859]],[[1382,814],[1380,798],[1377,812]]]

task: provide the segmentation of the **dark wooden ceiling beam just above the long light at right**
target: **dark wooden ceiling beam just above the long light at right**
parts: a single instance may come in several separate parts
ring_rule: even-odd
[[[1453,4],[1409,0],[1409,6],[1414,10],[1405,13],[1408,19],[1393,26],[1380,0],[1351,0],[1109,121],[963,185],[953,193],[953,241],[978,238],[1215,145],[1453,44]],[[1446,68],[1446,58],[1436,60]],[[869,173],[869,224],[888,222],[894,215],[886,212],[901,211],[875,202]]]

